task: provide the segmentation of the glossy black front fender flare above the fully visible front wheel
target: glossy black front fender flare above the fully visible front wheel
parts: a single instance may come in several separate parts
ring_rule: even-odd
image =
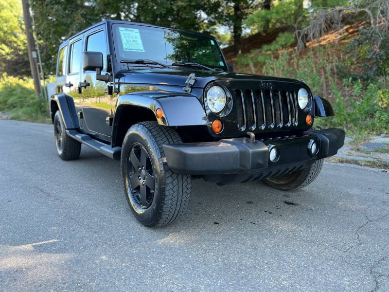
[[[116,110],[125,105],[150,109],[153,111],[154,115],[158,108],[162,109],[162,117],[157,118],[156,116],[156,120],[159,125],[163,126],[195,126],[208,124],[206,113],[201,106],[200,101],[191,94],[128,93],[119,97]]]

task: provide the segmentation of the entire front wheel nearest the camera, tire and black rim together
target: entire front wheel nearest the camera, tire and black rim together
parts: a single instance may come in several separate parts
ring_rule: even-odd
[[[141,122],[124,137],[121,168],[125,195],[135,218],[148,227],[172,223],[188,209],[192,178],[172,172],[163,144],[182,143],[177,132]]]

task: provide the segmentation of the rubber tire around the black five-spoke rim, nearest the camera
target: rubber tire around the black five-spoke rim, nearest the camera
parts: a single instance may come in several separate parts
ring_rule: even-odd
[[[170,224],[179,219],[188,209],[192,191],[192,177],[172,172],[166,163],[162,147],[163,144],[176,143],[182,143],[177,132],[172,128],[159,126],[157,122],[135,124],[125,134],[121,155],[124,192],[135,218],[147,227]],[[132,165],[129,159],[130,151],[139,145],[147,151],[147,159],[153,166],[155,189],[148,207],[142,207],[134,199],[135,192],[131,190],[131,170],[128,169],[128,161]]]

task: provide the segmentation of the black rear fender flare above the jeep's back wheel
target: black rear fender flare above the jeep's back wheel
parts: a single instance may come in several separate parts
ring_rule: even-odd
[[[61,116],[65,124],[65,128],[80,128],[76,108],[74,106],[74,101],[70,95],[65,93],[54,94],[50,98],[50,104],[52,101],[55,101],[57,103],[58,110],[61,112]],[[52,114],[54,113],[55,112],[53,112]]]

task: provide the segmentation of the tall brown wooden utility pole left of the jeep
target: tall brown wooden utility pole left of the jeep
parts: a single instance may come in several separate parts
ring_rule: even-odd
[[[22,0],[21,3],[23,5],[24,27],[26,29],[28,58],[30,60],[31,75],[34,79],[35,93],[40,95],[42,91],[40,88],[38,67],[36,66],[36,52],[33,29],[31,26],[30,7],[28,4],[28,0]]]

